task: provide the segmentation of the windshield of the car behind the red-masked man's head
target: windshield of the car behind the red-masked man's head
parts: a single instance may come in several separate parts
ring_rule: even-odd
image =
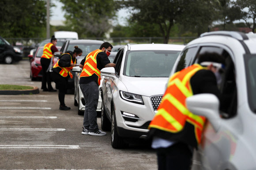
[[[83,56],[86,56],[90,52],[99,49],[102,44],[68,44],[67,51],[73,52],[76,45],[83,51]]]

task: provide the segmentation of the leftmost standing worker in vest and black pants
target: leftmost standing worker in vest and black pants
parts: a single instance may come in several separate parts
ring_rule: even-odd
[[[50,72],[47,71],[49,68],[49,65],[51,63],[51,59],[54,57],[55,52],[59,52],[59,50],[56,48],[57,39],[53,35],[51,38],[51,42],[48,44],[45,44],[43,55],[41,56],[40,63],[42,66],[43,71],[43,77],[42,77],[42,85],[41,89],[43,89],[43,92],[56,92],[57,90],[53,89],[53,86],[51,84],[51,78],[50,78]],[[61,52],[62,54],[62,52]],[[47,86],[46,86],[47,83]]]

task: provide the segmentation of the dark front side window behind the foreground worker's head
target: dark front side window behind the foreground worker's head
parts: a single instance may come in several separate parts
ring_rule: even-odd
[[[220,108],[222,118],[231,118],[237,113],[237,85],[236,85],[236,73],[233,60],[230,54],[221,47],[201,47],[198,55],[205,52],[215,52],[222,55],[225,59],[225,68],[222,76],[222,83],[218,85],[221,92],[221,102],[222,107]],[[195,63],[197,63],[198,58],[196,58]]]

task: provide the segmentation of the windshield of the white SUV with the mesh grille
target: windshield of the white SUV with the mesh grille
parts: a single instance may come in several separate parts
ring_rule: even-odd
[[[169,77],[181,51],[128,51],[124,75],[130,77]]]

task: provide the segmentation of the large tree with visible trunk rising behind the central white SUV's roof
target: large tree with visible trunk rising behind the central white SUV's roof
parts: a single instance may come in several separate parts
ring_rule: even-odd
[[[169,41],[170,30],[181,15],[188,0],[121,0],[120,8],[128,8],[132,14],[131,20],[137,24],[157,24],[164,43]]]

